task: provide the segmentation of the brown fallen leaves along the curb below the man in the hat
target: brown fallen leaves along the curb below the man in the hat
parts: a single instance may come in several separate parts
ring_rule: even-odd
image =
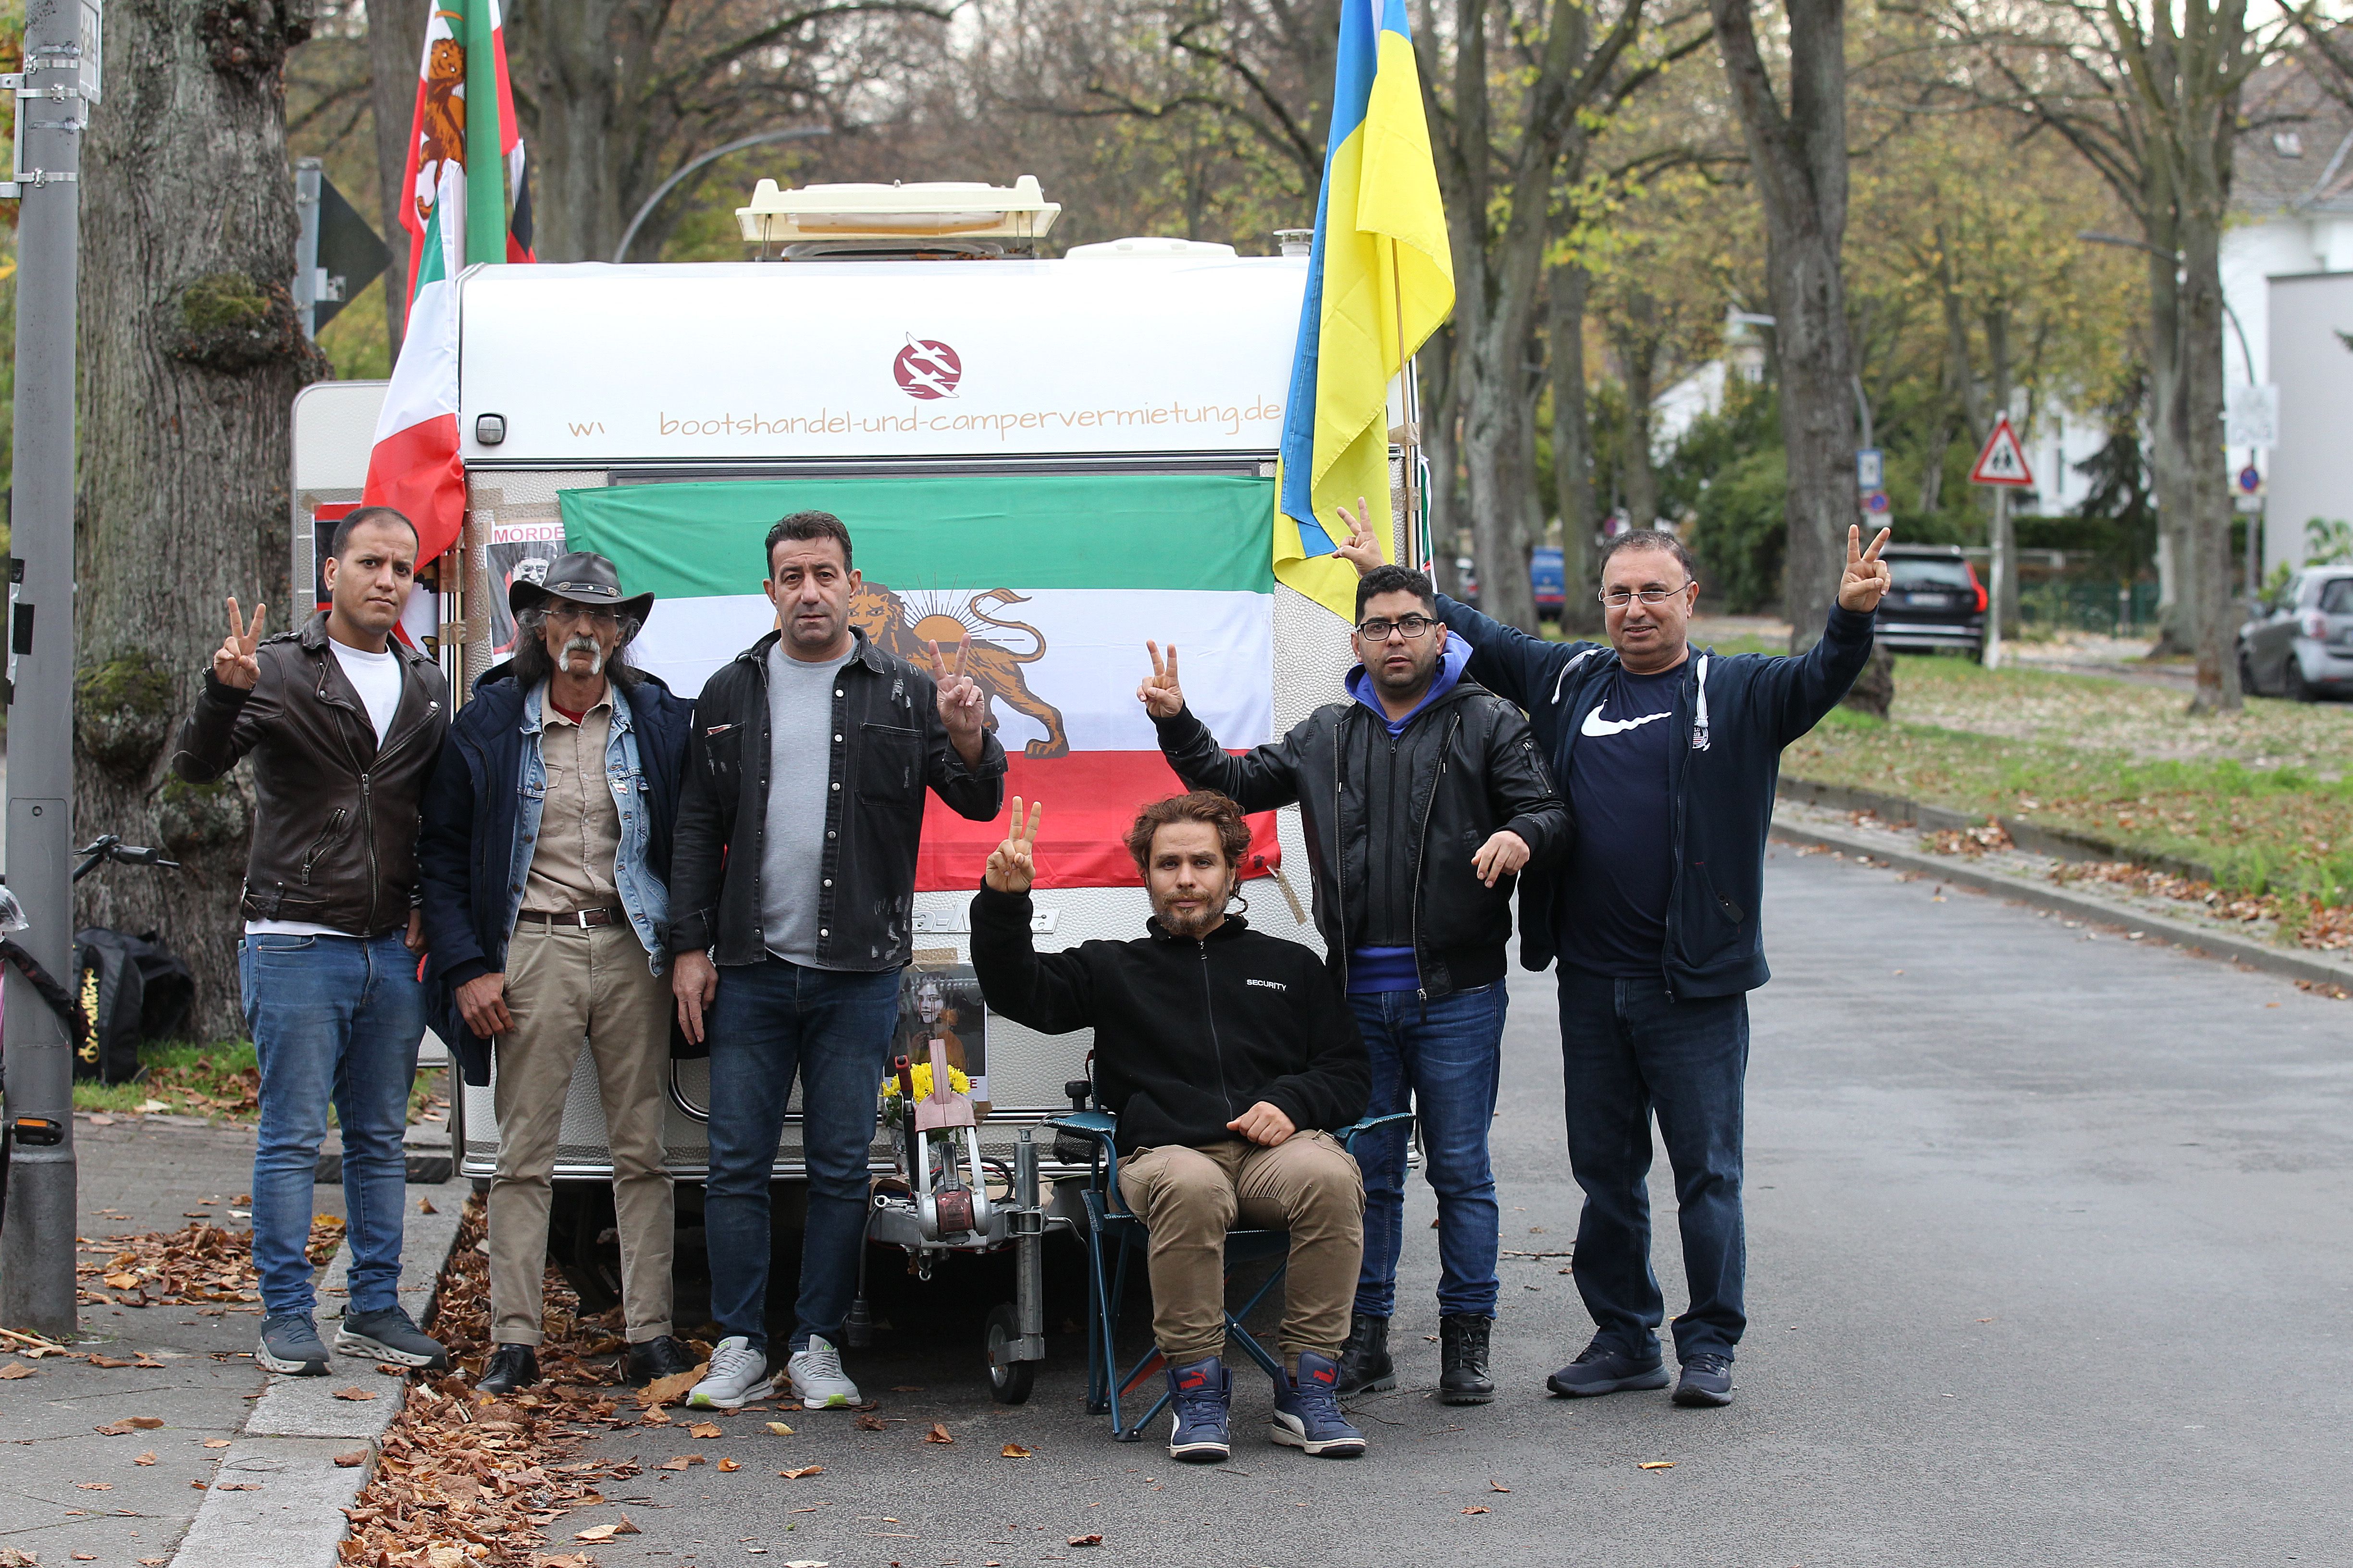
[[[348,1568],[588,1568],[588,1554],[546,1554],[546,1530],[572,1509],[600,1507],[598,1481],[642,1474],[635,1462],[579,1460],[595,1427],[671,1425],[661,1406],[694,1375],[619,1389],[609,1361],[624,1349],[614,1316],[581,1316],[562,1274],[546,1274],[546,1382],[508,1399],[471,1385],[489,1354],[489,1258],[482,1199],[468,1199],[442,1269],[428,1331],[449,1347],[452,1375],[409,1385],[384,1436],[376,1472],[346,1509]],[[619,1312],[619,1309],[616,1309]],[[633,1528],[633,1526],[631,1526]],[[621,1526],[607,1535],[624,1533]]]

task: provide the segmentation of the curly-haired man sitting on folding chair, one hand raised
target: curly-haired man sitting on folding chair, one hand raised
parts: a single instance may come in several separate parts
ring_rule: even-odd
[[[1289,1232],[1282,1375],[1268,1436],[1358,1458],[1339,1410],[1339,1347],[1365,1251],[1365,1178],[1332,1135],[1365,1114],[1372,1070],[1322,959],[1249,931],[1226,905],[1249,851],[1242,809],[1198,790],[1136,816],[1127,851],[1153,900],[1148,936],[1031,947],[1028,889],[1045,806],[988,856],[972,969],[991,1011],[1047,1034],[1094,1027],[1096,1093],[1118,1117],[1120,1197],[1151,1232],[1153,1338],[1167,1361],[1169,1455],[1224,1460],[1226,1232]]]

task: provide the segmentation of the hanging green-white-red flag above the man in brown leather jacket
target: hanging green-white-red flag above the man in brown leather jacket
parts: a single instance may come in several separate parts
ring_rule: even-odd
[[[456,433],[456,275],[478,261],[532,261],[532,186],[515,129],[499,0],[431,7],[416,63],[416,118],[402,190],[409,324],[367,458],[367,505],[416,524],[416,559],[456,543],[466,468]],[[513,197],[513,202],[508,202]]]

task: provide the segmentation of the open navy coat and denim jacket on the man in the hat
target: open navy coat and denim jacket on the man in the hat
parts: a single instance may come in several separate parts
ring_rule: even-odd
[[[546,806],[541,693],[520,686],[511,670],[511,663],[487,670],[449,722],[416,835],[433,1027],[456,1048],[468,1084],[489,1081],[489,1041],[466,1027],[456,987],[506,969]],[[671,947],[671,827],[694,703],[645,675],[628,691],[616,686],[612,708],[605,776],[621,809],[614,879],[647,964],[661,973]]]

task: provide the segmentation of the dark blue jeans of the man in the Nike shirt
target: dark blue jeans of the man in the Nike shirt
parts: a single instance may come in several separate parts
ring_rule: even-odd
[[[1729,1356],[1748,1314],[1741,1225],[1748,997],[1668,1001],[1657,978],[1612,980],[1560,966],[1560,1072],[1569,1168],[1586,1190],[1577,1222],[1577,1291],[1598,1340],[1659,1354],[1664,1298],[1649,1269],[1649,1117],[1675,1171],[1689,1309],[1675,1356]]]

